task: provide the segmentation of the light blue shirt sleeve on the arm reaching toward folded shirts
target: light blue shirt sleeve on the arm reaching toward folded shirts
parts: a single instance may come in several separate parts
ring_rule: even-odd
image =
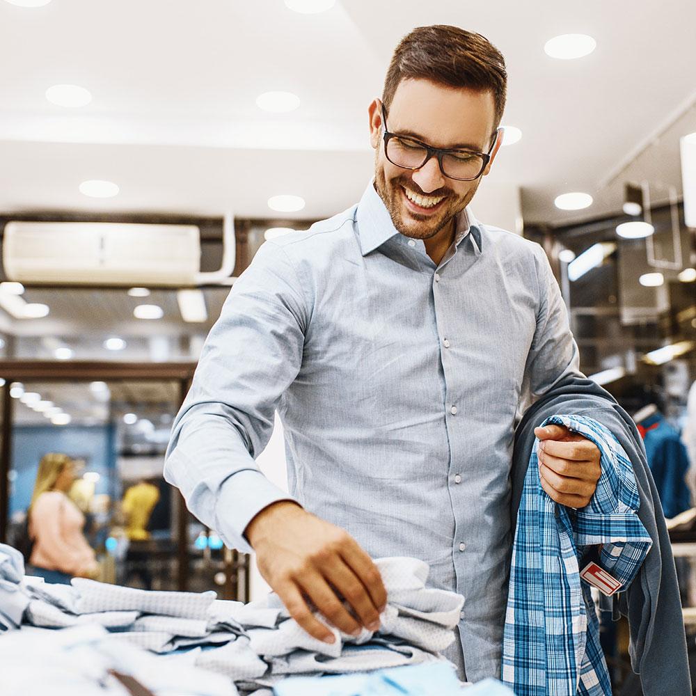
[[[173,423],[165,479],[200,521],[246,553],[251,519],[271,503],[293,500],[255,458],[299,372],[309,314],[284,249],[266,242],[232,287]]]

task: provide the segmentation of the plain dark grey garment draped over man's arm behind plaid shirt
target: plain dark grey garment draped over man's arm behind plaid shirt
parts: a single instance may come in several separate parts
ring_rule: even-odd
[[[640,674],[644,696],[691,696],[681,599],[672,547],[642,438],[628,413],[612,395],[592,380],[568,377],[546,397],[532,404],[515,432],[512,464],[512,529],[516,528],[534,429],[548,416],[573,413],[594,418],[614,434],[624,448],[640,493],[638,517],[653,546],[633,583],[614,598],[615,618],[628,617],[631,667]]]

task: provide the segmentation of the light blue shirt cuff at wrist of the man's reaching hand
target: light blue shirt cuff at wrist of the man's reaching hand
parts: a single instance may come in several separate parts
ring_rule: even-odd
[[[295,498],[272,484],[260,471],[244,469],[221,486],[215,505],[216,532],[230,548],[253,553],[244,530],[254,517],[272,503]],[[299,503],[298,503],[299,505]]]

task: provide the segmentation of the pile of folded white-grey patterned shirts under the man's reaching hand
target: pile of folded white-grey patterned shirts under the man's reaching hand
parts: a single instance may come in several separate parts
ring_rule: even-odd
[[[439,652],[454,640],[464,598],[426,588],[429,567],[422,561],[383,558],[375,564],[388,595],[379,630],[363,629],[352,636],[329,626],[332,644],[306,633],[275,594],[244,604],[216,600],[214,592],[153,592],[84,578],[74,578],[72,585],[52,585],[22,580],[23,567],[18,573],[14,566],[10,584],[22,601],[6,602],[0,594],[0,617],[8,612],[15,619],[23,615],[24,624],[42,628],[99,624],[105,629],[102,644],[134,644],[166,654],[171,664],[223,674],[244,692],[273,688],[287,675],[445,661]]]

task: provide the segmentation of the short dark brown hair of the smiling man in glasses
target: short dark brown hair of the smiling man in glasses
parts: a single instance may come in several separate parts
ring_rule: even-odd
[[[505,58],[481,34],[458,26],[418,26],[394,51],[382,102],[389,108],[403,79],[427,79],[448,87],[491,91],[496,104],[496,127],[503,118],[507,96]]]

